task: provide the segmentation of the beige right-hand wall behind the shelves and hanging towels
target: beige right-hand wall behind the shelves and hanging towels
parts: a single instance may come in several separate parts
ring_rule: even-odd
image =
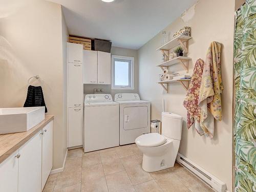
[[[200,1],[182,18],[176,19],[165,30],[172,37],[183,26],[191,27],[193,38],[189,40],[189,53],[187,54],[192,58],[189,62],[189,74],[193,72],[196,60],[205,58],[211,41],[219,41],[222,44],[222,79],[225,88],[222,94],[223,120],[216,122],[214,138],[199,136],[194,126],[187,130],[186,110],[182,105],[186,91],[179,83],[169,84],[168,93],[164,93],[162,87],[156,83],[159,81],[158,74],[162,73],[161,69],[156,67],[161,61],[161,53],[156,51],[161,46],[161,33],[139,49],[139,93],[142,99],[152,102],[152,119],[161,119],[162,98],[166,101],[166,111],[183,116],[179,152],[225,182],[231,192],[234,1]],[[180,65],[169,69],[180,74],[185,73]]]

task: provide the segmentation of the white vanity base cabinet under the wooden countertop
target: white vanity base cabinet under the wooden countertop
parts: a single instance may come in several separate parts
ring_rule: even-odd
[[[0,191],[41,192],[52,169],[52,125],[22,145],[0,164]]]

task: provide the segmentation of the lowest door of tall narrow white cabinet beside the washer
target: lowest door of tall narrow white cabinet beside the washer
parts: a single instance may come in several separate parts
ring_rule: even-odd
[[[82,108],[69,108],[68,147],[82,145]]]

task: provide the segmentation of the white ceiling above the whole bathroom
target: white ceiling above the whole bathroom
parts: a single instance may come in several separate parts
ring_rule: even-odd
[[[139,49],[197,0],[48,0],[63,6],[71,35],[109,39]]]

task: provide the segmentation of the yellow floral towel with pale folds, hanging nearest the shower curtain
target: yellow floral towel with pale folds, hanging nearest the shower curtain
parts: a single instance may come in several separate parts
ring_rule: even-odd
[[[221,120],[221,44],[213,41],[208,48],[199,92],[200,125],[204,133],[214,137],[214,118]],[[208,113],[210,112],[210,113]]]

